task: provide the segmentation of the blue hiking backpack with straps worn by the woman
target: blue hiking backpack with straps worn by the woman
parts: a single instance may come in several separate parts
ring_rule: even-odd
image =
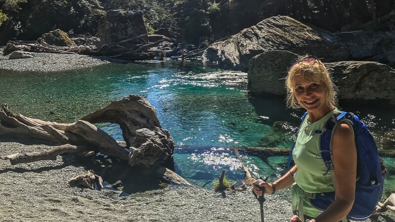
[[[301,117],[302,122],[306,114],[307,112]],[[340,111],[325,123],[325,127],[322,130],[314,131],[314,133],[320,134],[320,154],[328,169],[326,174],[334,170],[330,148],[332,130],[343,121],[348,121],[352,124],[357,151],[355,200],[347,218],[353,221],[365,221],[373,213],[383,195],[386,169],[381,163],[377,145],[366,125],[356,115]],[[296,137],[298,137],[298,133],[299,130],[295,135]],[[290,167],[295,143],[288,158],[288,168]],[[310,199],[311,204],[320,210],[325,210],[335,200],[335,192],[319,193],[312,196],[313,198]]]

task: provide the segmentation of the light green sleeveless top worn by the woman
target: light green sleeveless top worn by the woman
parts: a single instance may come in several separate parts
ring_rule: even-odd
[[[320,193],[335,190],[331,175],[327,174],[327,176],[323,176],[327,168],[318,154],[320,134],[316,134],[314,131],[322,130],[328,119],[336,112],[339,112],[339,110],[330,111],[313,123],[308,122],[307,114],[302,122],[293,150],[293,158],[295,164],[298,166],[294,180],[306,192]],[[303,191],[294,192],[294,195],[297,196],[293,198],[299,200],[299,198],[303,198]],[[314,208],[307,197],[304,200],[303,206],[304,214],[310,217],[316,217],[322,212]]]

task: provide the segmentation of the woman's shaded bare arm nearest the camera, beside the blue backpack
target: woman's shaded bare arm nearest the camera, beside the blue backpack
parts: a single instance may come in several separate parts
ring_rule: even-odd
[[[335,167],[335,201],[315,218],[316,222],[341,221],[354,203],[357,160],[354,134],[350,125],[341,123],[336,127],[332,137],[332,155]]]

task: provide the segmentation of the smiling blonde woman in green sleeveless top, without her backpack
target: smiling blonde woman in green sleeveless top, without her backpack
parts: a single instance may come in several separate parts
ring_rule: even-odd
[[[333,131],[332,157],[334,179],[328,174],[322,159],[317,158],[319,152],[319,134],[314,131],[322,129],[329,118],[336,112],[336,93],[334,84],[324,64],[318,59],[306,56],[299,58],[291,65],[286,85],[288,88],[288,105],[292,108],[304,108],[307,116],[299,130],[293,151],[295,166],[273,183],[261,182],[264,193],[293,185],[292,222],[302,220],[310,222],[345,221],[354,202],[356,181],[356,148],[353,130],[349,123],[340,123]],[[295,184],[294,184],[295,183]],[[335,191],[335,201],[321,211],[314,208],[308,193]],[[260,187],[254,185],[254,192],[262,195]],[[302,213],[303,208],[303,213]],[[297,211],[296,211],[297,210]]]

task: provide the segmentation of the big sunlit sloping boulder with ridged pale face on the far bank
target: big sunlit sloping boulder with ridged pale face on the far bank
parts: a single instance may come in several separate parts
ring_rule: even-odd
[[[348,58],[347,48],[338,37],[288,16],[264,19],[256,26],[212,44],[203,56],[224,68],[247,71],[250,59],[269,50],[309,53],[327,62]]]

